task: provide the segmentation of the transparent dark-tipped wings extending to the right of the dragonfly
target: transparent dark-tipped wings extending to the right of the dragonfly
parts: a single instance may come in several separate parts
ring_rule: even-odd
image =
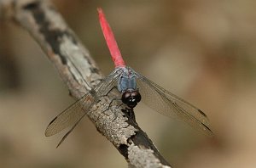
[[[142,94],[142,101],[150,108],[156,110],[162,115],[183,120],[196,130],[212,136],[209,128],[209,120],[207,115],[192,104],[178,98],[172,92],[166,91],[164,88],[148,80],[146,77],[137,72],[137,85],[139,92]]]

